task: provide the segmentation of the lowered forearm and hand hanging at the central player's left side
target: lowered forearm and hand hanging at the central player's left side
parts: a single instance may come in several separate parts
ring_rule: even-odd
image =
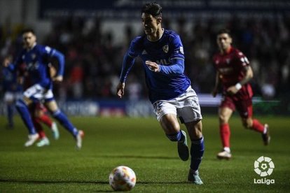
[[[122,72],[120,74],[120,83],[117,86],[117,95],[122,98],[125,92],[125,80],[134,64],[134,57],[130,56],[128,52],[123,58]]]

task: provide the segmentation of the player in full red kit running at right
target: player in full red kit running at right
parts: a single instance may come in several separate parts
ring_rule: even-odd
[[[261,124],[254,119],[251,98],[253,92],[249,80],[253,78],[253,71],[246,56],[232,46],[230,31],[221,29],[216,37],[219,53],[213,58],[216,68],[216,83],[212,95],[215,97],[219,84],[223,87],[221,104],[219,106],[219,131],[223,150],[217,154],[219,159],[230,159],[230,126],[228,120],[237,109],[246,129],[258,131],[262,134],[264,145],[270,142],[268,124]]]

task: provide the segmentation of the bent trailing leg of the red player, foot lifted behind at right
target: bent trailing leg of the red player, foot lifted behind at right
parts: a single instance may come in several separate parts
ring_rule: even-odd
[[[240,103],[236,106],[240,113],[240,117],[242,118],[244,128],[260,133],[262,135],[264,145],[268,145],[270,143],[269,126],[268,124],[261,124],[261,122],[252,118],[253,105],[251,99],[240,101]]]

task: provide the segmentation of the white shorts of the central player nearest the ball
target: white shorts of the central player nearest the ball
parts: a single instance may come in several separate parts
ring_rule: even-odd
[[[181,123],[202,120],[198,96],[191,86],[175,99],[156,101],[153,111],[158,121],[166,114],[177,115]]]

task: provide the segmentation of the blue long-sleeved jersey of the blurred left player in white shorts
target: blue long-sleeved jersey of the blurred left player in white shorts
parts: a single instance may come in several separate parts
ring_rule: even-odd
[[[39,84],[46,89],[52,89],[53,83],[48,68],[48,59],[51,57],[57,58],[59,66],[57,75],[62,76],[64,73],[64,55],[44,45],[36,44],[31,50],[23,49],[15,61],[14,68],[19,69],[20,66],[25,66],[30,85]]]

